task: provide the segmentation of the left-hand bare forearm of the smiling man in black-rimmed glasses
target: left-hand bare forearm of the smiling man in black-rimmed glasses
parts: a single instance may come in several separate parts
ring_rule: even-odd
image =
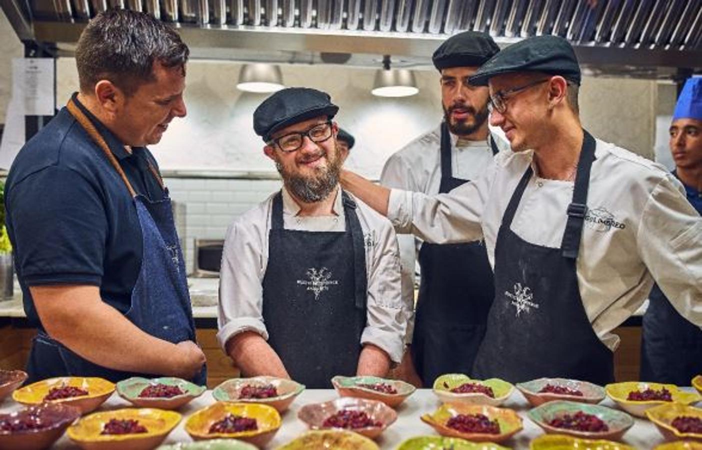
[[[227,340],[227,355],[245,376],[290,378],[282,360],[258,333],[244,331]]]

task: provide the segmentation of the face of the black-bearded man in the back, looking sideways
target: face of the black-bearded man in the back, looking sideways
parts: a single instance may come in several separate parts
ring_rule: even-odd
[[[478,67],[450,67],[441,71],[444,119],[453,134],[470,135],[487,119],[487,88],[468,83],[468,77],[477,70]]]

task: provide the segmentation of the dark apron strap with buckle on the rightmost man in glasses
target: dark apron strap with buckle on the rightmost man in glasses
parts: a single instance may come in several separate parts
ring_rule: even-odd
[[[588,187],[590,185],[590,168],[595,161],[595,138],[583,130],[583,148],[578,159],[578,169],[573,190],[573,199],[568,205],[568,220],[561,241],[561,251],[564,258],[578,258],[580,240],[583,235],[585,213],[588,211]]]

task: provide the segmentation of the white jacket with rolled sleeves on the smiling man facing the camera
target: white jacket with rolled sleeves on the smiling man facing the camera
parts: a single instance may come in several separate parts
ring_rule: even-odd
[[[300,207],[283,188],[283,222],[286,230],[345,231],[341,195],[336,196],[333,216],[298,216]],[[268,237],[275,194],[234,220],[227,230],[222,268],[217,339],[225,349],[227,340],[242,331],[268,338],[263,323],[263,277],[268,263]],[[353,196],[352,196],[353,197]],[[407,311],[412,305],[400,293],[399,253],[395,231],[388,219],[353,197],[366,249],[368,279],[367,323],[361,344],[383,349],[393,362],[402,360]],[[333,332],[333,330],[330,330]],[[226,351],[226,350],[225,350]]]

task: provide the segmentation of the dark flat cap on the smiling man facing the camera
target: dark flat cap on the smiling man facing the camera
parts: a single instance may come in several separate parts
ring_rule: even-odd
[[[314,117],[331,119],[339,107],[329,94],[312,88],[285,88],[263,100],[253,112],[253,131],[264,142],[276,131]]]

